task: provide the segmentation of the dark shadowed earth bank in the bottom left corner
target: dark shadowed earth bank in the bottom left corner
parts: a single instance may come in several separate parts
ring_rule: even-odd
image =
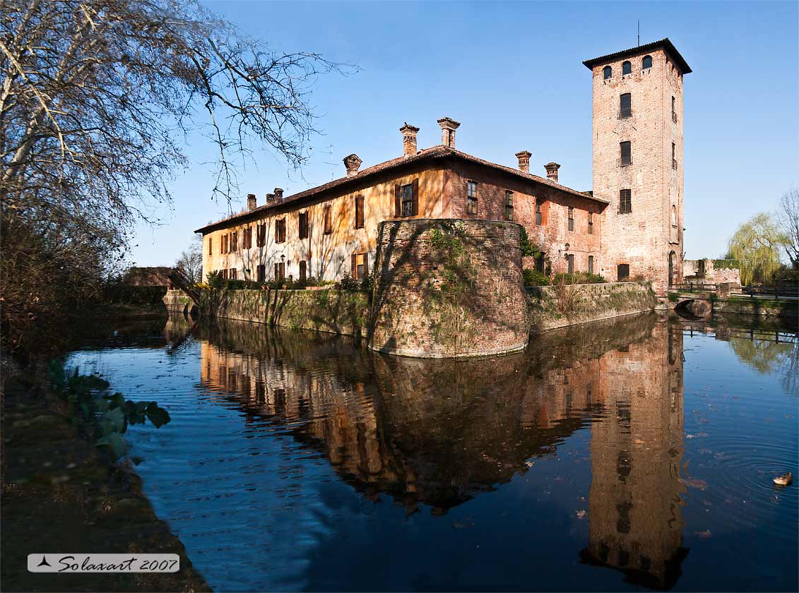
[[[3,363],[3,591],[210,591],[181,541],[157,518],[129,467],[104,458],[44,371]],[[169,553],[181,570],[161,574],[32,574],[46,551]]]

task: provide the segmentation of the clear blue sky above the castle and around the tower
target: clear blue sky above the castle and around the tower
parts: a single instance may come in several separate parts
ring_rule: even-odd
[[[531,171],[559,162],[560,181],[591,188],[591,85],[582,60],[668,37],[694,70],[685,79],[686,257],[718,257],[738,223],[777,208],[799,186],[797,2],[205,2],[280,51],[360,66],[321,77],[312,104],[323,132],[301,171],[266,149],[240,172],[244,206],[402,153],[398,128],[440,143],[439,117],[460,121],[459,149]],[[212,148],[190,137],[193,162],[169,185],[173,208],[140,225],[131,259],[171,265],[193,230],[227,212],[211,199]]]

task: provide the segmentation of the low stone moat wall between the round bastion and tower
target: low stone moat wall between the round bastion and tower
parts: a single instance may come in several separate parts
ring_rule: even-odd
[[[658,305],[651,283],[571,284],[528,287],[531,332],[653,310]]]

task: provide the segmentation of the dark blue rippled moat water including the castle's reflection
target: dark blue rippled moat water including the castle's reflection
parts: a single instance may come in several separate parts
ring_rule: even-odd
[[[796,591],[797,353],[644,315],[426,362],[177,318],[72,362],[169,409],[131,453],[219,591]]]

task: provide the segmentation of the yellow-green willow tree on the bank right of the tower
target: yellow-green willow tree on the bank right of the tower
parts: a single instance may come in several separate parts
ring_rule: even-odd
[[[772,283],[780,269],[787,238],[772,215],[761,213],[742,223],[729,239],[729,255],[741,267],[741,283]]]

